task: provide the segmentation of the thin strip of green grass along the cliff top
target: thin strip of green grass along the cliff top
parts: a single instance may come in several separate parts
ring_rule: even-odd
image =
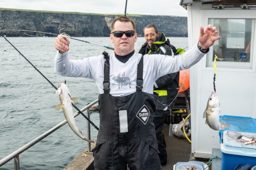
[[[95,14],[95,13],[81,13],[81,12],[60,12],[60,11],[36,11],[36,10],[22,10],[22,9],[12,9],[12,8],[0,8],[0,10],[59,13],[59,14],[79,14],[79,15],[106,15],[106,16],[108,16],[108,15],[123,16],[124,15],[124,14]],[[142,17],[142,16],[149,16],[149,15],[129,14],[127,16]],[[150,15],[150,16],[170,16],[170,15]],[[182,17],[182,16],[173,16],[173,17]]]

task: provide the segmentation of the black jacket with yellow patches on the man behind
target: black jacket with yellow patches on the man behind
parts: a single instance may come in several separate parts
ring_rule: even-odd
[[[165,34],[161,34],[161,39],[152,44],[147,54],[177,55],[177,53],[180,52],[180,49],[178,50],[179,52],[177,52],[176,48],[170,44],[169,39],[166,40]],[[146,48],[147,42],[142,45],[139,53],[145,54]],[[157,108],[155,113],[156,117],[164,117],[170,115],[171,112],[169,109],[173,108],[176,101],[175,97],[179,91],[179,78],[180,73],[176,72],[164,75],[156,80],[154,84],[154,92],[157,92],[159,94],[159,102],[157,102]],[[168,106],[170,103],[171,105]],[[167,109],[166,107],[168,107],[169,109]]]

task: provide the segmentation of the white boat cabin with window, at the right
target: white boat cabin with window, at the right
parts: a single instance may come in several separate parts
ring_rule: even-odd
[[[213,87],[214,58],[216,94],[220,115],[256,118],[255,0],[181,0],[188,12],[188,45],[198,42],[199,27],[215,26],[221,39],[190,68],[191,153],[211,158],[220,148],[219,131],[205,124],[204,110]],[[228,122],[227,122],[228,123]]]

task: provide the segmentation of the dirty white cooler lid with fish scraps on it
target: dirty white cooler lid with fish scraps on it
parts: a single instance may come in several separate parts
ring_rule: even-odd
[[[256,133],[224,131],[223,145],[228,147],[256,149]]]

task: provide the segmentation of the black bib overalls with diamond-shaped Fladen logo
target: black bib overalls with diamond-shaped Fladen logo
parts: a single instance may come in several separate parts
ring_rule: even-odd
[[[114,97],[109,94],[109,57],[104,65],[104,94],[99,95],[100,129],[93,149],[94,168],[124,170],[162,169],[153,124],[156,95],[142,92],[143,56],[138,64],[137,90]]]

